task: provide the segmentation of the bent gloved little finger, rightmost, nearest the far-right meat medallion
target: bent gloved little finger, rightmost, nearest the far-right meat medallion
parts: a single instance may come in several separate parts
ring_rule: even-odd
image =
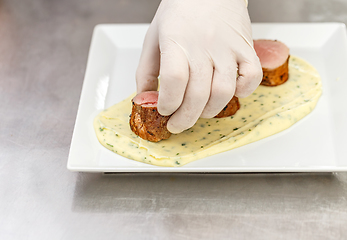
[[[260,61],[255,52],[247,56],[251,57],[239,62],[239,76],[236,79],[235,95],[240,98],[247,97],[254,92],[263,78]]]

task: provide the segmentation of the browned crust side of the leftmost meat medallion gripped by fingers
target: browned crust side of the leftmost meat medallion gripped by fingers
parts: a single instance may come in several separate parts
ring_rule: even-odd
[[[156,107],[142,107],[133,102],[129,123],[131,130],[140,138],[159,142],[171,136],[166,127],[169,118],[160,115]]]

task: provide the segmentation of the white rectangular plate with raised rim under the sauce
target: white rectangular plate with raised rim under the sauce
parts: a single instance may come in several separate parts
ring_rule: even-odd
[[[321,74],[323,95],[291,128],[182,167],[119,156],[97,140],[93,119],[135,92],[148,24],[98,25],[89,52],[67,167],[90,172],[334,172],[347,170],[347,38],[341,23],[253,24],[254,39],[278,39]]]

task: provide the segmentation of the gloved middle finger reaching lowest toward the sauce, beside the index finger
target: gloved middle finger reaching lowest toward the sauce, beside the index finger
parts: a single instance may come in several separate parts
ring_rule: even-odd
[[[210,96],[213,67],[207,59],[190,63],[189,82],[180,108],[170,117],[167,128],[172,133],[180,133],[192,127],[199,119]]]

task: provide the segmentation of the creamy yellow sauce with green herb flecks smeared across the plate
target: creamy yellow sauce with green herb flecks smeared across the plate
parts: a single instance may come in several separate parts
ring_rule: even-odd
[[[199,119],[190,129],[158,143],[135,135],[129,127],[131,99],[102,111],[94,120],[99,142],[107,149],[136,161],[178,167],[228,151],[283,131],[309,114],[322,93],[316,69],[291,56],[289,79],[276,87],[259,86],[231,117]]]

